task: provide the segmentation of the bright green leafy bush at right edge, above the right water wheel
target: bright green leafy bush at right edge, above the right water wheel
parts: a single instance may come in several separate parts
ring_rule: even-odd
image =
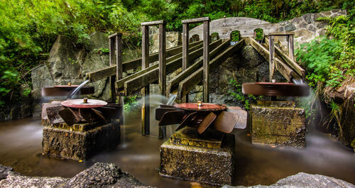
[[[329,23],[327,35],[296,50],[297,60],[307,67],[307,79],[312,87],[325,82],[326,87],[339,87],[346,77],[355,73],[355,26],[350,16],[324,17]]]

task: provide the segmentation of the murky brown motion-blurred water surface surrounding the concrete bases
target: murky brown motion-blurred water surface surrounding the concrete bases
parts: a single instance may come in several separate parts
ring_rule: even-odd
[[[113,162],[122,170],[153,187],[190,187],[190,182],[160,177],[159,140],[141,136],[140,112],[125,115],[121,144],[84,162],[45,157],[40,121],[24,118],[0,123],[0,164],[29,176],[73,177],[95,162]],[[170,132],[170,128],[167,128]],[[334,138],[308,128],[307,148],[268,148],[252,145],[248,131],[236,136],[234,184],[273,184],[297,172],[327,175],[355,184],[355,154]],[[171,133],[171,132],[170,132]],[[168,135],[170,134],[168,133]],[[203,187],[211,187],[202,184]]]

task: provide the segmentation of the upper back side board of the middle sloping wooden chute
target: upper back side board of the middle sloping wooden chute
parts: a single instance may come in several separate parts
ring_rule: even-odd
[[[190,51],[193,52],[195,50],[198,50],[199,48],[202,48],[202,43],[190,48]],[[173,60],[177,60],[180,57],[182,57],[182,53],[181,52],[178,53],[177,55],[173,55],[171,57],[168,57],[168,59],[166,60],[166,63],[172,62]],[[127,77],[119,79],[119,81],[116,82],[116,89],[118,89],[116,92],[120,92],[121,90],[124,89],[124,82],[127,82],[128,80],[133,79],[135,77],[138,77],[139,75],[144,74],[146,72],[154,70],[157,67],[158,67],[158,65],[153,65],[153,66],[148,67],[148,68],[146,68],[144,70],[138,71],[138,72],[136,72],[134,74],[131,74],[131,75],[127,76]]]

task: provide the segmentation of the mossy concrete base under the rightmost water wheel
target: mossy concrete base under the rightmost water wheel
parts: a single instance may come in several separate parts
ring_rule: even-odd
[[[257,144],[305,147],[305,109],[292,101],[258,101],[251,106],[251,141]]]

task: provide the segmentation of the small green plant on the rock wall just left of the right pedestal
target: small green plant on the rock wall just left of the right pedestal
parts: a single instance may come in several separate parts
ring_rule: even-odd
[[[235,92],[231,92],[231,91],[228,91],[229,94],[231,94],[231,96],[234,96],[234,98],[237,100],[237,101],[241,101],[242,104],[244,104],[244,107],[249,110],[250,109],[250,105],[251,103],[255,102],[256,99],[262,99],[263,96],[253,96],[253,94],[248,94],[248,95],[245,95],[241,92],[241,84],[236,81],[235,79],[231,79],[229,80],[229,84],[233,85],[236,89]]]

